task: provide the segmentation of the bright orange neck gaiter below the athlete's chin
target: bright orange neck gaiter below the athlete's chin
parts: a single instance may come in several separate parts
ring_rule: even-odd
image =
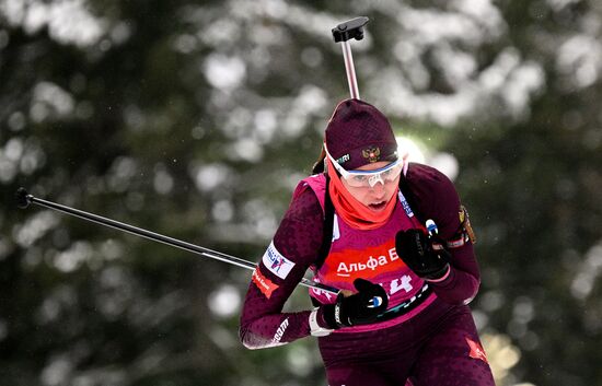
[[[331,177],[328,194],[333,200],[336,213],[340,215],[349,226],[358,230],[374,230],[384,225],[391,218],[391,214],[393,214],[397,201],[397,192],[395,191],[395,195],[389,200],[384,210],[374,212],[358,201],[349,190],[347,190],[329,160],[327,164],[328,176]]]

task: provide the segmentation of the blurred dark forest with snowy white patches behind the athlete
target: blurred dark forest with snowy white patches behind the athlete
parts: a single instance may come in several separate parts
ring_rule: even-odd
[[[251,271],[348,97],[454,179],[498,386],[602,386],[602,2],[0,0],[0,385],[325,385],[238,341]],[[306,290],[288,305],[306,309]]]

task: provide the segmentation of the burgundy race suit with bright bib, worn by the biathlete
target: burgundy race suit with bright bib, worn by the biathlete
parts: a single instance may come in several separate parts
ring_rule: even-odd
[[[400,192],[390,220],[377,230],[354,229],[335,212],[329,254],[320,267],[325,178],[316,175],[298,185],[253,272],[241,314],[245,347],[275,347],[310,335],[310,311],[285,313],[282,308],[311,269],[315,281],[340,290],[352,290],[356,278],[379,283],[389,294],[390,308],[402,309],[395,318],[319,338],[331,386],[393,386],[406,379],[416,386],[494,385],[467,307],[481,277],[466,212],[453,184],[437,169],[410,163],[402,178],[413,207]],[[451,255],[450,273],[441,281],[424,281],[395,250],[396,232],[424,227],[427,219],[436,222]],[[322,304],[336,301],[335,295],[315,289],[310,295]],[[319,324],[326,327],[320,315]]]

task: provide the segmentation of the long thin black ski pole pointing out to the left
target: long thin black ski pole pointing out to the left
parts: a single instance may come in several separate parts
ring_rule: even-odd
[[[184,250],[187,250],[187,252],[192,252],[194,254],[201,255],[204,257],[208,257],[210,259],[228,262],[228,264],[231,264],[231,265],[236,266],[236,267],[246,268],[246,269],[251,269],[251,270],[254,270],[257,267],[256,264],[251,262],[248,260],[241,259],[241,258],[235,257],[235,256],[227,255],[227,254],[223,254],[221,252],[212,250],[212,249],[201,247],[201,246],[198,246],[198,245],[195,245],[195,244],[183,242],[183,241],[177,239],[177,238],[164,236],[164,235],[155,233],[155,232],[147,231],[147,230],[141,229],[141,227],[132,226],[132,225],[129,225],[129,224],[126,224],[126,223],[123,223],[123,222],[118,222],[118,221],[115,221],[115,220],[103,218],[103,217],[97,215],[97,214],[84,212],[82,210],[70,208],[70,207],[67,207],[67,206],[62,206],[60,203],[56,203],[56,202],[43,200],[40,198],[36,198],[36,197],[30,195],[27,192],[27,190],[25,190],[24,188],[19,188],[16,190],[16,197],[15,198],[16,198],[16,204],[21,209],[25,209],[31,203],[35,203],[35,204],[44,207],[44,208],[56,210],[58,212],[62,212],[62,213],[73,215],[73,217],[77,217],[77,218],[80,218],[80,219],[83,219],[83,220],[86,220],[86,221],[94,222],[96,224],[101,224],[101,225],[104,225],[104,226],[108,226],[108,227],[113,227],[113,229],[116,229],[116,230],[119,230],[119,231],[124,231],[124,232],[134,234],[136,236],[144,237],[144,238],[148,238],[148,239],[152,239],[154,242],[166,244],[166,245],[172,246],[172,247],[176,247],[176,248],[181,248],[181,249],[184,249]],[[306,279],[306,278],[302,278],[300,284],[304,285],[304,286],[308,286],[308,288],[314,288],[314,289],[317,289],[317,290],[331,292],[331,293],[334,293],[334,294],[338,294],[338,292],[339,292],[335,288],[324,285],[324,284],[321,284],[321,283],[316,283],[312,280]]]

